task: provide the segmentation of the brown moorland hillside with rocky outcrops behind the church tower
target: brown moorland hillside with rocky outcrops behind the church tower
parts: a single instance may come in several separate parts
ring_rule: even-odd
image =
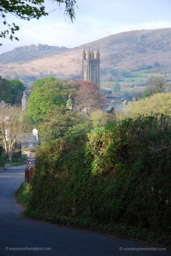
[[[111,35],[85,44],[100,50],[101,67],[137,70],[155,61],[171,63],[171,28],[134,30]],[[42,50],[42,48],[44,48]],[[43,76],[81,75],[83,45],[71,49],[58,46],[31,45],[17,47],[0,55],[0,73],[7,79],[31,81]],[[24,78],[23,78],[24,77]]]

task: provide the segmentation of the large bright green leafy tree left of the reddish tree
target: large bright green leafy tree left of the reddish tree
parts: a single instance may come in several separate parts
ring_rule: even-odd
[[[55,106],[66,106],[69,94],[76,95],[77,84],[70,80],[58,80],[55,77],[38,79],[33,83],[27,105],[27,113],[34,122],[44,118]],[[74,95],[74,96],[72,96]]]

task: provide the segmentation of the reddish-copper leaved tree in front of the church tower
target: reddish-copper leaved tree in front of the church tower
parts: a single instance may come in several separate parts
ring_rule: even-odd
[[[78,84],[78,92],[75,98],[77,111],[83,111],[88,115],[95,110],[104,108],[105,97],[102,92],[99,91],[95,83],[88,81],[75,80]]]

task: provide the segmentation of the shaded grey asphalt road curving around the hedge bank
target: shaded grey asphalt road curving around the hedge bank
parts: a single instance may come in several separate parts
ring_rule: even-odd
[[[19,217],[22,208],[16,204],[14,195],[24,180],[25,166],[11,167],[0,173],[0,256],[171,255],[167,251],[149,249],[142,251],[142,248],[146,247],[142,244],[112,239],[85,231],[56,227],[48,223]],[[37,248],[41,249],[37,250]],[[132,250],[132,248],[138,248],[139,251]]]

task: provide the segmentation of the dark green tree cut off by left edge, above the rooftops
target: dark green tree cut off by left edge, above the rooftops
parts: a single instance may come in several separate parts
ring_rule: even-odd
[[[11,84],[10,82],[0,76],[0,101],[4,100],[7,103],[11,103]]]

